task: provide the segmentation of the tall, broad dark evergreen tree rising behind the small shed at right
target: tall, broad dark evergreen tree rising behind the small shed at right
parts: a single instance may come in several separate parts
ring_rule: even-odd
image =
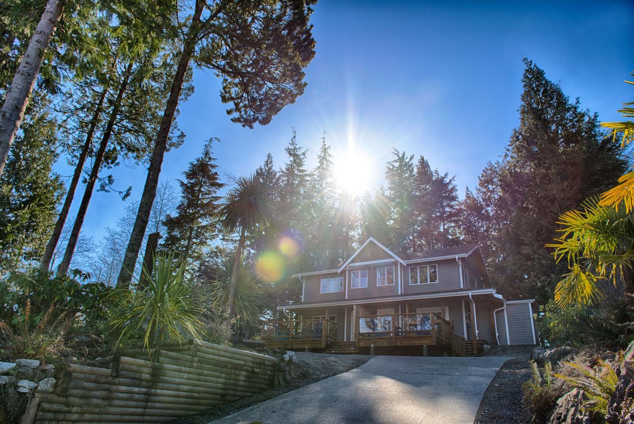
[[[484,169],[475,195],[463,202],[462,219],[470,237],[490,248],[501,292],[545,300],[565,271],[544,247],[556,236],[557,218],[614,184],[626,161],[596,114],[572,103],[532,61],[525,64],[519,126],[501,162]]]

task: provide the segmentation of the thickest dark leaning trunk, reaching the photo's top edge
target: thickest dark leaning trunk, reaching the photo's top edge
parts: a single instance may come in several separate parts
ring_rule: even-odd
[[[143,236],[145,236],[145,230],[150,220],[150,212],[152,212],[152,204],[157,194],[157,186],[159,185],[159,174],[161,165],[163,164],[163,157],[165,155],[165,148],[167,148],[167,139],[169,138],[169,131],[172,127],[172,121],[174,120],[174,113],[178,107],[178,99],[183,89],[183,82],[187,68],[190,65],[191,55],[193,54],[198,34],[200,32],[200,16],[206,1],[196,0],[196,6],[194,15],[191,18],[190,28],[187,33],[187,38],[183,44],[183,53],[178,61],[178,68],[176,68],[176,74],[174,80],[172,80],[172,87],[169,92],[169,98],[167,98],[167,104],[163,112],[163,118],[160,123],[159,132],[154,142],[154,151],[152,158],[150,159],[150,167],[148,169],[148,176],[145,179],[145,187],[143,188],[143,195],[141,196],[141,202],[139,203],[139,210],[136,214],[136,220],[134,221],[134,227],[130,234],[130,240],[127,243],[126,255],[123,259],[121,271],[119,272],[119,278],[117,278],[117,286],[127,286],[130,284],[132,276],[134,274],[134,267],[136,266],[136,260],[139,256],[139,249],[143,243]],[[219,13],[217,11],[216,13]],[[212,18],[210,16],[210,18]],[[209,19],[210,19],[209,18]]]

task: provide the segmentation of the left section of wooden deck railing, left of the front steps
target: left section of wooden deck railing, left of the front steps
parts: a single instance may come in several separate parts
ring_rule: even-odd
[[[262,323],[261,339],[276,347],[326,347],[337,340],[339,326],[329,319],[292,319]]]

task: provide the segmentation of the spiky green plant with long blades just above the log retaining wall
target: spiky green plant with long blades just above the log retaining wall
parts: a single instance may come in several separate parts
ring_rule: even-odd
[[[155,257],[152,275],[144,266],[137,290],[117,290],[119,313],[111,325],[119,341],[143,330],[143,347],[150,349],[162,340],[182,340],[185,335],[199,338],[204,311],[195,300],[194,286],[184,278],[185,263],[173,254]]]

